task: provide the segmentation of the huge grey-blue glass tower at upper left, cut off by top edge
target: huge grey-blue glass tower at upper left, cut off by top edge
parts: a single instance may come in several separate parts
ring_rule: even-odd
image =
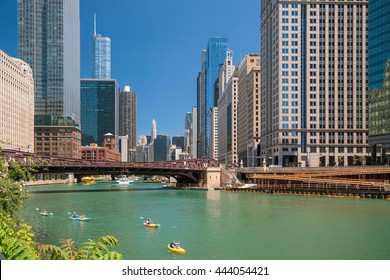
[[[18,56],[33,70],[35,114],[80,123],[79,0],[19,0]]]

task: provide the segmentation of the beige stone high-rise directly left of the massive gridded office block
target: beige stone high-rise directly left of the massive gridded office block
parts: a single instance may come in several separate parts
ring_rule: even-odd
[[[237,72],[237,154],[244,166],[259,166],[260,56],[246,55]]]

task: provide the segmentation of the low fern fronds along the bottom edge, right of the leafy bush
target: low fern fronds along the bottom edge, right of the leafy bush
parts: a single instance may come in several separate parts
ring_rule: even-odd
[[[111,251],[110,247],[119,244],[113,236],[103,236],[84,242],[77,250],[71,239],[61,240],[61,246],[40,244],[38,252],[41,259],[48,260],[122,260],[122,254]]]

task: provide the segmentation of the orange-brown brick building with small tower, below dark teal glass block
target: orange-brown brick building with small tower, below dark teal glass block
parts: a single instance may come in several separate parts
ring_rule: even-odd
[[[121,154],[115,149],[115,136],[111,133],[104,135],[103,147],[95,143],[81,147],[81,158],[96,161],[121,161]]]

